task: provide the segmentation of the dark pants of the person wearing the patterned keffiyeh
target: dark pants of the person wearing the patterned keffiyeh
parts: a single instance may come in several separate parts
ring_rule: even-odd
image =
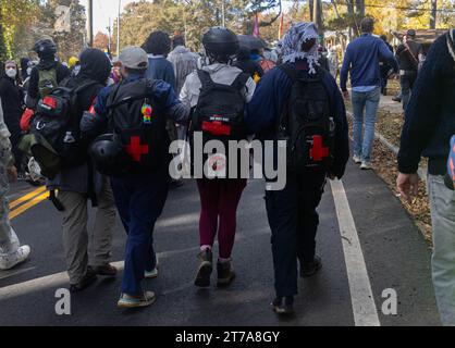
[[[278,297],[297,294],[297,259],[312,261],[319,206],[325,171],[308,169],[287,174],[286,187],[266,191],[267,214],[272,231],[272,253]]]

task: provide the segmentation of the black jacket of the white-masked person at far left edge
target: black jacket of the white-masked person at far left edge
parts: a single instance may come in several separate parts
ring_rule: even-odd
[[[20,130],[20,122],[23,112],[24,95],[16,85],[15,79],[4,75],[0,79],[0,98],[3,108],[4,123],[13,134]]]

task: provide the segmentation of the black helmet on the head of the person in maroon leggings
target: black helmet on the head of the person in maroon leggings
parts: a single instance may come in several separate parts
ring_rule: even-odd
[[[239,50],[237,36],[220,26],[210,28],[204,35],[202,45],[209,58],[223,63],[234,59]]]

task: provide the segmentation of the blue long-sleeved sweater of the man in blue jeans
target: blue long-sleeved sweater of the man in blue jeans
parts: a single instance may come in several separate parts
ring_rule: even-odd
[[[380,61],[386,61],[395,71],[398,72],[398,63],[393,52],[383,40],[371,34],[362,34],[360,37],[347,45],[344,55],[343,66],[340,76],[340,87],[346,89],[347,73],[351,70],[351,85],[359,86],[380,86],[381,72]]]

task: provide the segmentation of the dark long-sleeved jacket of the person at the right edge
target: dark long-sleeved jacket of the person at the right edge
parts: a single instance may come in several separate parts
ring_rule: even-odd
[[[398,169],[416,173],[420,157],[429,158],[428,171],[444,175],[450,139],[455,134],[455,60],[447,35],[431,46],[413,89],[403,126]]]

